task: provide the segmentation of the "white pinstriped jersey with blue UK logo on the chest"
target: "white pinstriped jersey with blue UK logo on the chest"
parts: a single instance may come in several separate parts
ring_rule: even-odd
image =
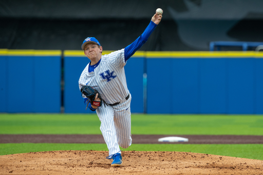
[[[120,102],[129,94],[125,64],[124,49],[102,55],[100,64],[93,72],[88,72],[89,64],[83,70],[79,80],[80,89],[88,85],[97,89],[106,103]],[[83,97],[86,98],[84,95]]]

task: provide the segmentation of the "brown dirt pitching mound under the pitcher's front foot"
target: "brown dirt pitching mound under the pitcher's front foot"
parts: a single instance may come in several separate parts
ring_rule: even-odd
[[[45,151],[0,156],[0,174],[263,174],[263,161],[192,152],[123,151],[111,167],[108,151]]]

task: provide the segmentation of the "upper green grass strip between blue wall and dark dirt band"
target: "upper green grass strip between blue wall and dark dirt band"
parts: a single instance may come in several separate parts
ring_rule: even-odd
[[[0,114],[0,134],[101,134],[96,114]],[[132,114],[132,134],[263,135],[263,115]]]

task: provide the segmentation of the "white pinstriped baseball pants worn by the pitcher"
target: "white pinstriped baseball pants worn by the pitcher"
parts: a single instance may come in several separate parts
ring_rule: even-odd
[[[127,148],[132,145],[130,101],[129,99],[116,106],[99,107],[96,111],[101,121],[101,132],[107,144],[109,155],[120,151],[120,147]]]

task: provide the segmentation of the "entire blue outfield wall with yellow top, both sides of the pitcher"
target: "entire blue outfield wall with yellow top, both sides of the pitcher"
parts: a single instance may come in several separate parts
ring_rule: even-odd
[[[0,112],[61,112],[61,61],[62,51],[0,49]],[[64,51],[66,113],[95,113],[78,85],[88,63]],[[136,52],[124,69],[133,113],[263,114],[260,52]]]

